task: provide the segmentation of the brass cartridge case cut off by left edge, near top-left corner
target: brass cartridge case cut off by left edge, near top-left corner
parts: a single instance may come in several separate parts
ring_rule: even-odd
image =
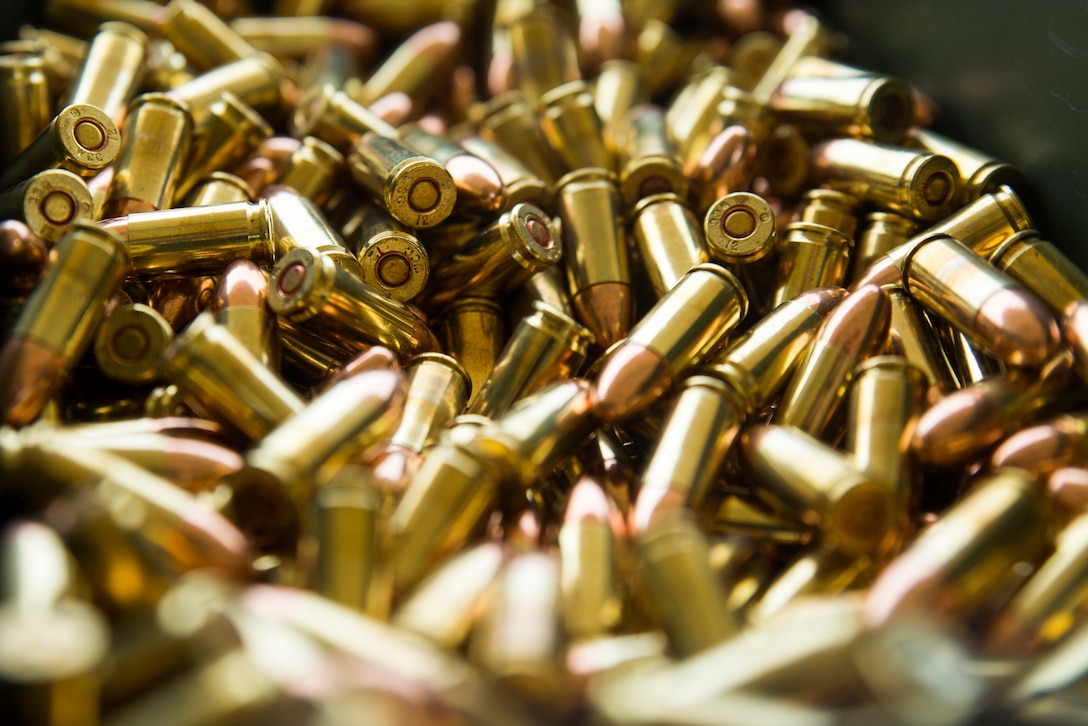
[[[49,81],[40,56],[0,56],[0,164],[7,168],[50,120]]]

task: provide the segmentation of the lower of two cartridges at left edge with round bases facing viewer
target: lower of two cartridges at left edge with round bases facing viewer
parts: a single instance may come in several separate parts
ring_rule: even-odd
[[[92,206],[86,182],[63,169],[47,169],[0,192],[0,218],[25,222],[50,244],[72,224],[91,221]]]

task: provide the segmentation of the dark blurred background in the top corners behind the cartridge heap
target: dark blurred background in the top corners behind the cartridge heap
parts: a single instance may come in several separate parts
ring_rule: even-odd
[[[42,4],[0,0],[0,38]],[[1037,226],[1088,269],[1088,0],[815,4],[850,38],[846,60],[914,83],[939,131],[1023,169]]]

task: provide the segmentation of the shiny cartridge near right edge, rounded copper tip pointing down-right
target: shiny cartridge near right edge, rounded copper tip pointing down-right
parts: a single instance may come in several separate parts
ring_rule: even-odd
[[[999,360],[1039,366],[1058,349],[1058,323],[1042,303],[952,237],[930,237],[904,261],[903,284]]]

